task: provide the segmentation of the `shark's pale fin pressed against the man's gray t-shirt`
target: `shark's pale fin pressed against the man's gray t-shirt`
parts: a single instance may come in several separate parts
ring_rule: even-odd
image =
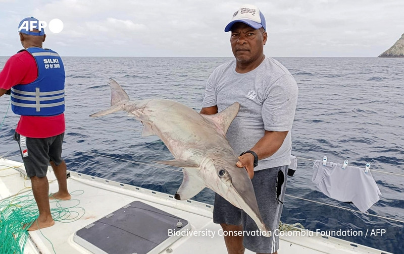
[[[213,115],[206,115],[206,114],[201,115],[213,121],[218,131],[223,132],[224,136],[226,136],[227,130],[229,129],[231,122],[236,117],[239,109],[240,109],[240,103],[234,102],[233,104],[223,109],[219,113]]]

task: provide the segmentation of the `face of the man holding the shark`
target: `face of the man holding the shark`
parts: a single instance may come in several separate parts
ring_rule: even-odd
[[[262,57],[267,33],[237,22],[231,28],[231,49],[238,62],[249,63]]]

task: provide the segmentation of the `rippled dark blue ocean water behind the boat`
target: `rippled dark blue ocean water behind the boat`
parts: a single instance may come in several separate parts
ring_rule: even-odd
[[[231,58],[64,57],[66,134],[63,156],[69,170],[175,194],[178,168],[153,160],[172,159],[155,136],[140,135],[141,123],[125,112],[99,118],[88,115],[110,104],[108,80],[114,78],[131,99],[167,98],[200,110],[210,73]],[[0,68],[7,57],[0,57]],[[313,160],[404,174],[404,59],[277,58],[295,77],[299,98],[292,129],[292,154],[298,170],[286,194],[357,210],[326,197],[312,183]],[[0,98],[0,123],[9,97]],[[167,115],[167,117],[170,117]],[[9,109],[0,129],[0,156],[21,161],[12,135],[18,116]],[[120,158],[127,161],[114,159]],[[136,163],[136,162],[140,162]],[[382,197],[369,213],[404,220],[404,177],[372,171]],[[71,189],[71,191],[73,191]],[[212,204],[204,189],[193,199]],[[311,230],[362,231],[342,239],[393,253],[404,253],[404,224],[286,197],[282,222]],[[384,229],[383,235],[370,235]],[[365,232],[368,235],[365,237]],[[380,231],[377,231],[380,232]]]

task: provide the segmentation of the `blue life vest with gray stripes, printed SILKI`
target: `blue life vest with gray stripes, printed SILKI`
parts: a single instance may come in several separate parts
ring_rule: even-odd
[[[65,111],[65,68],[62,58],[51,49],[31,47],[25,50],[35,58],[38,77],[32,83],[11,88],[13,112],[34,116],[63,113]]]

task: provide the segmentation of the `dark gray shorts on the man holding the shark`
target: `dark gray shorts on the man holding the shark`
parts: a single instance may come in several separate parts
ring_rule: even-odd
[[[261,217],[269,228],[271,237],[244,234],[243,245],[258,253],[273,253],[279,249],[277,231],[285,198],[288,166],[254,171],[252,186],[256,194]],[[220,195],[215,196],[213,222],[228,225],[242,225],[243,231],[259,230],[257,224],[243,210],[233,206]]]

